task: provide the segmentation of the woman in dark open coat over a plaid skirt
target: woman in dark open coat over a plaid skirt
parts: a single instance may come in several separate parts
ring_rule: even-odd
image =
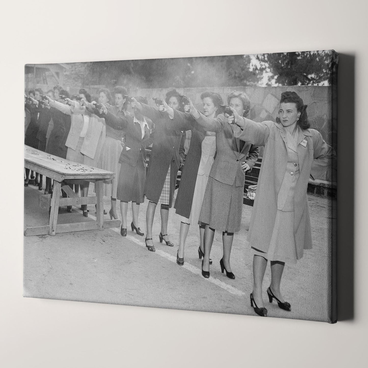
[[[166,94],[166,103],[174,110],[182,107],[181,98],[176,91],[170,91]],[[179,120],[174,123],[167,112],[159,112],[151,106],[138,103],[135,99],[133,99],[131,106],[137,106],[137,109],[155,124],[152,153],[148,163],[144,189],[145,196],[149,200],[146,213],[146,247],[154,252],[155,246],[152,241],[153,216],[155,215],[156,205],[162,201],[160,199],[162,197],[166,197],[164,200],[166,203],[161,202],[161,233],[159,239],[160,243],[165,241],[166,245],[174,246],[167,235],[167,222],[169,208],[173,203],[177,173],[184,159],[185,139],[182,131],[188,122],[177,116],[174,119]]]

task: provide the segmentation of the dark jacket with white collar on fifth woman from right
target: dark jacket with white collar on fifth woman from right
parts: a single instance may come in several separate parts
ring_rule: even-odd
[[[152,138],[150,138],[152,120],[146,118],[148,127],[145,125],[143,139],[141,126],[138,123],[134,123],[134,117],[132,116],[117,117],[108,110],[105,122],[114,130],[124,130],[125,132],[125,147],[121,151],[119,162],[125,162],[135,167],[138,160],[141,160],[143,166],[146,167],[146,147],[152,143]],[[127,147],[130,149],[127,150]]]

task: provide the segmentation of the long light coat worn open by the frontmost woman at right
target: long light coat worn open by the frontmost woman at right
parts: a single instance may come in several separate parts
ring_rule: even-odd
[[[273,121],[256,123],[243,118],[245,128],[235,126],[234,136],[257,146],[264,146],[254,207],[248,233],[251,247],[268,252],[277,213],[277,199],[288,162],[286,131]],[[297,155],[299,178],[294,188],[294,238],[297,259],[303,249],[312,248],[311,224],[308,211],[307,187],[309,177],[321,177],[335,158],[333,149],[314,129],[299,128]],[[291,173],[290,173],[291,174]],[[292,174],[291,174],[292,175]]]

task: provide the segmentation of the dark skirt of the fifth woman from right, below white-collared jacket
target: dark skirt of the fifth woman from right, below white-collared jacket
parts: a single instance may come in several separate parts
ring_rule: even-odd
[[[123,202],[144,202],[144,184],[146,168],[143,160],[138,160],[137,166],[121,162],[117,183],[117,199]]]

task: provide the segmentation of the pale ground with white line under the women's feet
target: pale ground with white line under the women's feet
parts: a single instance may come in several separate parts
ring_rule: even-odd
[[[48,212],[39,208],[38,187],[25,187],[24,227],[48,224]],[[93,194],[91,184],[90,195]],[[264,279],[264,301],[268,316],[329,321],[329,223],[331,199],[308,195],[314,247],[305,251],[297,265],[286,265],[282,292],[291,311],[269,304],[266,288],[270,269]],[[119,202],[117,202],[118,204]],[[148,202],[141,204],[139,226],[145,232]],[[108,212],[110,198],[104,198]],[[58,223],[91,221],[95,206],[89,205],[89,218],[79,208],[72,213],[60,208]],[[210,278],[201,275],[198,259],[199,231],[192,226],[187,237],[184,266],[176,263],[180,222],[170,209],[169,236],[176,244],[159,243],[160,213],[156,209],[153,240],[156,252],[145,248],[144,238],[132,233],[120,236],[120,228],[91,230],[56,236],[24,237],[24,296],[74,301],[103,302],[145,307],[255,315],[250,307],[252,255],[246,240],[252,207],[243,206],[241,231],[234,235],[231,269],[236,279],[221,273],[222,233],[216,232],[211,258]],[[118,210],[120,216],[120,210]],[[105,215],[105,218],[110,218]],[[131,207],[128,223],[131,222]]]

